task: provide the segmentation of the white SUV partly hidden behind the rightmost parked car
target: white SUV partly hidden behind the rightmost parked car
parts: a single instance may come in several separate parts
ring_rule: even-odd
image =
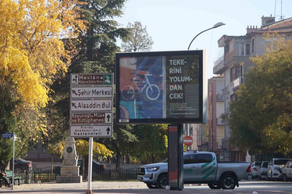
[[[267,167],[267,180],[275,181],[275,179],[283,179],[282,169],[284,165],[292,159],[273,158]]]

